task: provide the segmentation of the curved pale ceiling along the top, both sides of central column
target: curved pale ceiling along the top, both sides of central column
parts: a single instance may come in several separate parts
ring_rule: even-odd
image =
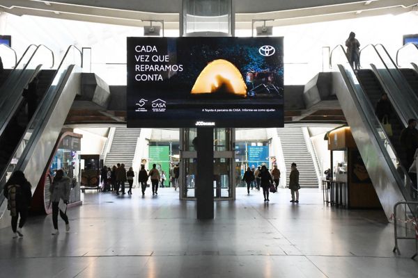
[[[416,10],[418,0],[235,0],[235,28],[250,29],[252,19],[272,19],[269,26],[284,26],[400,14]],[[0,12],[36,15],[84,22],[144,26],[164,20],[164,27],[179,28],[180,0],[0,0]]]

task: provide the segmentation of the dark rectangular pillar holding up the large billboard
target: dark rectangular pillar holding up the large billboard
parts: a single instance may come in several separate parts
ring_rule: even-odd
[[[213,128],[198,127],[196,206],[197,219],[213,219]]]

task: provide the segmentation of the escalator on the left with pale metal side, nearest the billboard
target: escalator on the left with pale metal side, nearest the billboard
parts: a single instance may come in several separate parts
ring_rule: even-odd
[[[72,102],[80,93],[81,63],[82,52],[70,46],[57,70],[41,70],[37,73],[38,101],[32,117],[28,117],[29,109],[25,109],[27,101],[22,97],[15,98],[17,108],[10,117],[11,121],[6,124],[6,129],[17,127],[18,133],[13,134],[13,138],[6,136],[9,132],[0,133],[2,143],[10,146],[8,155],[3,155],[0,167],[1,188],[10,172],[22,170],[32,184],[32,190],[36,189]],[[0,203],[2,201],[0,199]],[[1,209],[0,213],[3,213],[4,205]]]

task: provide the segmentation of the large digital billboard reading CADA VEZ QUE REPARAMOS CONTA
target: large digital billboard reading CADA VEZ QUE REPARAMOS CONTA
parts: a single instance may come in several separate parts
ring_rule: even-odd
[[[283,77],[283,38],[127,38],[127,126],[281,127]]]

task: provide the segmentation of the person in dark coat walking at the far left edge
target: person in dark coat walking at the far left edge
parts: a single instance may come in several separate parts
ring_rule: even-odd
[[[22,171],[13,172],[3,188],[3,195],[8,201],[7,208],[10,210],[10,216],[12,217],[13,238],[22,237],[22,228],[26,222],[32,199],[31,183],[26,180]],[[19,216],[19,229],[17,229]]]

